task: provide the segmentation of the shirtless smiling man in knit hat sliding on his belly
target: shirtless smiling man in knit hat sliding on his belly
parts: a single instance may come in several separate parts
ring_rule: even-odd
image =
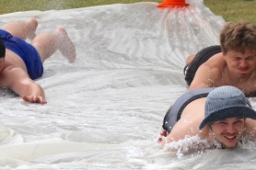
[[[239,88],[199,88],[180,96],[169,108],[163,121],[163,137],[158,142],[165,145],[198,136],[204,143],[193,143],[189,151],[215,149],[217,144],[233,149],[241,138],[256,140],[255,119],[256,111]]]

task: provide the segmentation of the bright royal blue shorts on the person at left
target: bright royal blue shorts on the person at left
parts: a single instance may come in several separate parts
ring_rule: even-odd
[[[0,37],[4,40],[6,49],[15,52],[28,70],[29,77],[34,80],[43,74],[43,65],[39,52],[25,40],[13,37],[6,30],[0,29]]]

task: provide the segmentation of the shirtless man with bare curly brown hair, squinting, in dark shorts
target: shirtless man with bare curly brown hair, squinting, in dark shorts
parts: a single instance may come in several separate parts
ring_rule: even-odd
[[[188,57],[184,74],[190,90],[232,85],[246,96],[256,96],[256,26],[248,21],[228,23],[220,44]]]

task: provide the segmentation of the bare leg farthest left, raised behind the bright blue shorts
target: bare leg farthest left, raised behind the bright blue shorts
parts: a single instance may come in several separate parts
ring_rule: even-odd
[[[36,29],[38,27],[38,21],[36,18],[32,17],[28,21],[22,22],[9,22],[3,29],[9,32],[12,36],[18,37],[22,40],[34,39],[36,36]]]

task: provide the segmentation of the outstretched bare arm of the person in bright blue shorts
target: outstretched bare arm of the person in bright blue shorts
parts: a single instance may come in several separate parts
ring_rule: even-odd
[[[29,78],[29,75],[17,67],[6,68],[2,74],[2,81],[6,88],[14,91],[18,96],[22,96],[25,101],[31,103],[47,103],[41,85],[36,84]]]

